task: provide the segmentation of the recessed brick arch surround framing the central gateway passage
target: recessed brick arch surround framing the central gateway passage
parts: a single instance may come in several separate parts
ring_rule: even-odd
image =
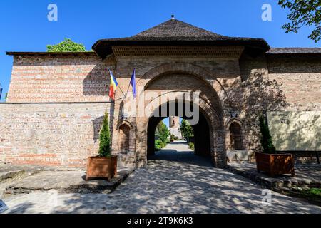
[[[195,140],[198,141],[195,143],[195,150],[200,155],[210,154],[215,167],[226,166],[224,115],[221,105],[226,96],[213,73],[208,73],[203,68],[188,63],[168,63],[153,68],[141,76],[138,79],[138,87],[143,87],[138,96],[140,100],[138,103],[144,103],[145,107],[149,106],[147,108],[149,109],[148,115],[139,115],[136,118],[138,167],[145,166],[147,155],[153,153],[151,148],[153,148],[154,142],[151,139],[154,130],[157,123],[165,118],[164,116],[154,118],[153,112],[165,103],[177,103],[175,98],[166,100],[163,97],[170,97],[172,93],[195,92],[199,93],[197,105],[200,110],[200,123],[193,126],[193,129],[197,132],[195,133],[197,135]],[[144,98],[141,98],[144,93],[148,94],[147,97],[145,95]]]

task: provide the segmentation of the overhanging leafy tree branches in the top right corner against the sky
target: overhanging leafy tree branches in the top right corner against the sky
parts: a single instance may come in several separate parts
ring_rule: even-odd
[[[285,23],[282,29],[286,33],[297,33],[304,26],[312,26],[313,31],[309,38],[312,41],[320,41],[321,39],[321,0],[279,0],[278,4],[282,8],[290,9],[287,15],[289,23]]]

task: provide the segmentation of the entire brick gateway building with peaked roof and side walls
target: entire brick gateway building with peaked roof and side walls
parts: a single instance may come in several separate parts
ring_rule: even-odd
[[[153,153],[162,118],[123,113],[123,95],[108,98],[108,68],[126,90],[153,96],[200,91],[195,153],[224,167],[229,150],[258,150],[262,110],[320,110],[321,50],[270,48],[260,38],[220,36],[171,19],[128,38],[97,41],[94,52],[9,52],[14,56],[6,103],[0,104],[0,162],[85,167],[98,152],[103,113],[120,165],[141,167]],[[126,114],[126,115],[125,115]]]

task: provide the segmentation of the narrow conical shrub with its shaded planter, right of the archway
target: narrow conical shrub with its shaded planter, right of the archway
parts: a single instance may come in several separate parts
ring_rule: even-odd
[[[292,177],[295,177],[293,155],[277,153],[263,115],[260,116],[260,131],[263,152],[255,152],[258,172],[267,172],[271,177],[290,173]]]

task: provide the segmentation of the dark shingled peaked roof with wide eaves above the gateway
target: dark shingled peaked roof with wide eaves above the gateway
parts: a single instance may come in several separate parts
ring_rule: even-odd
[[[113,53],[112,46],[244,46],[251,53],[265,53],[270,46],[262,38],[240,38],[222,36],[203,28],[170,19],[135,36],[126,38],[108,38],[97,41],[93,45],[101,58]]]

